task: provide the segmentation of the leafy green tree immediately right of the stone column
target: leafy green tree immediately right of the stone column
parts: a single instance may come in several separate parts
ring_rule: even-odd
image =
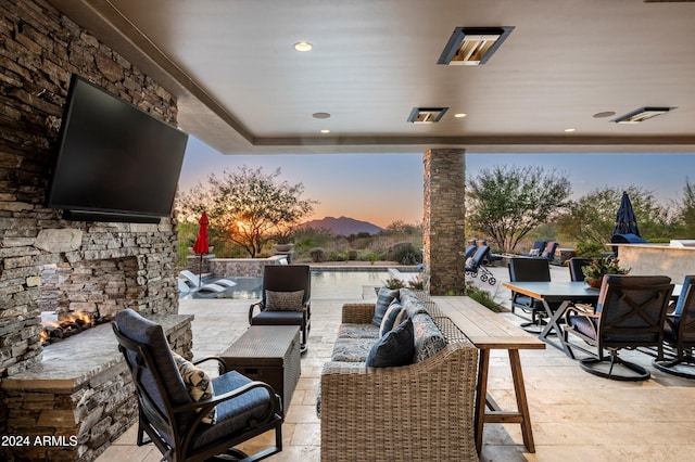
[[[567,175],[542,167],[495,166],[467,182],[466,221],[503,252],[551,220],[566,205],[571,187]]]

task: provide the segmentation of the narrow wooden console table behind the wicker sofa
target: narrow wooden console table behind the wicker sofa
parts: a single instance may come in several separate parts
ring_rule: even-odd
[[[480,349],[476,393],[476,449],[478,452],[482,447],[485,423],[518,423],[521,425],[523,445],[529,452],[535,452],[519,350],[544,349],[545,343],[469,297],[431,297],[431,299]],[[488,393],[491,349],[506,349],[509,354],[517,411],[503,411]],[[485,410],[485,405],[490,411]]]

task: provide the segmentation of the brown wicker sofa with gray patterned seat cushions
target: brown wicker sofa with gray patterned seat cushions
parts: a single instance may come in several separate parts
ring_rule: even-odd
[[[367,368],[366,356],[380,338],[376,305],[343,305],[320,376],[321,460],[477,461],[478,350],[433,304],[409,290],[396,296],[415,328],[407,365]]]

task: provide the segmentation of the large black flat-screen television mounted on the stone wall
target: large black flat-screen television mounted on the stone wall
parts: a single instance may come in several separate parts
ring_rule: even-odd
[[[47,206],[63,218],[159,222],[172,214],[188,134],[73,76]]]

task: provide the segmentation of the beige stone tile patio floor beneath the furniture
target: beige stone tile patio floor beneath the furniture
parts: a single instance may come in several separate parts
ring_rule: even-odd
[[[493,268],[498,281],[508,280],[506,268]],[[563,280],[566,268],[553,268]],[[677,281],[678,282],[678,281]],[[476,284],[495,293],[508,305],[508,291]],[[496,292],[495,292],[496,291]],[[320,423],[314,402],[321,365],[330,357],[338,324],[340,299],[312,300],[309,349],[302,357],[302,376],[283,425],[283,451],[268,460],[312,462],[320,459]],[[227,348],[248,325],[244,300],[181,300],[180,312],[195,315],[195,357]],[[516,323],[520,318],[501,313]],[[583,372],[576,361],[548,346],[520,351],[531,412],[535,453],[526,452],[519,425],[485,427],[482,461],[685,461],[695,454],[695,381],[674,377],[654,368],[642,383],[615,382]],[[649,365],[652,358],[630,354]],[[504,351],[492,352],[489,390],[503,408],[514,407],[509,365]],[[135,426],[109,448],[99,462],[159,461],[153,446],[135,445]],[[269,439],[256,438],[262,446]],[[248,447],[248,449],[252,449]],[[433,454],[433,459],[434,459]],[[407,454],[404,454],[407,459]]]

